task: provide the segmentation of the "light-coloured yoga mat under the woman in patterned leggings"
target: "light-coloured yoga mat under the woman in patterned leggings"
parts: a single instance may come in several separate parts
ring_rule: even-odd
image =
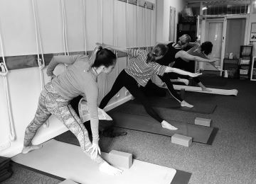
[[[107,160],[108,154],[102,152],[102,157]],[[28,154],[18,154],[12,160],[61,178],[87,184],[169,184],[176,174],[174,168],[134,159],[131,168],[122,168],[122,175],[109,176],[98,170],[97,164],[82,152],[80,146],[58,142],[54,139],[45,142],[43,148]]]

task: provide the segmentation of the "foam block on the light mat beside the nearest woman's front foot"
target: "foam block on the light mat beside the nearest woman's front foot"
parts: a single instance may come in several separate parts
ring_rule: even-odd
[[[117,167],[130,168],[132,166],[132,154],[112,150],[109,153],[110,163]]]

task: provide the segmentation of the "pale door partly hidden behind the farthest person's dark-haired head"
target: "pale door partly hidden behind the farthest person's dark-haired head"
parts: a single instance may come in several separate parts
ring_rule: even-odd
[[[210,59],[218,59],[215,65],[220,69],[223,67],[225,51],[225,30],[226,18],[207,18],[205,41],[213,43],[213,51],[209,55]],[[203,63],[204,70],[216,70],[211,64]]]

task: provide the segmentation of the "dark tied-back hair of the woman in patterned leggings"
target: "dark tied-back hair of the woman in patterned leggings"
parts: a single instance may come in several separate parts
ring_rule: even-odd
[[[117,56],[108,49],[103,49],[101,46],[95,47],[92,55],[90,56],[91,67],[110,67],[117,60]]]

